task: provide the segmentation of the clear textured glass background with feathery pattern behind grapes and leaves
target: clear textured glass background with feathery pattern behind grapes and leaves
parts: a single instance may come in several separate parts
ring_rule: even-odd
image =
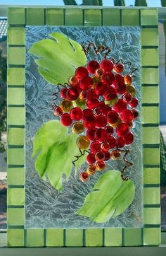
[[[26,26],[26,227],[27,228],[104,228],[104,227],[134,227],[141,226],[142,219],[142,161],[141,161],[141,117],[134,122],[134,143],[129,146],[132,152],[127,158],[134,165],[127,169],[126,175],[134,181],[136,187],[135,198],[132,204],[120,216],[110,219],[106,223],[96,223],[87,217],[78,216],[75,211],[84,203],[84,198],[91,192],[98,178],[110,169],[122,170],[121,161],[110,161],[102,173],[91,176],[88,182],[79,180],[79,173],[86,168],[86,164],[79,168],[75,176],[74,170],[68,182],[63,178],[63,192],[58,192],[49,181],[41,180],[34,168],[34,159],[31,158],[33,139],[38,129],[49,120],[55,119],[51,104],[56,92],[52,86],[41,77],[34,63],[34,57],[28,50],[41,39],[49,37],[50,33],[64,33],[77,42],[87,45],[94,42],[96,45],[111,47],[109,58],[122,58],[124,62],[131,61],[132,66],[138,68],[135,72],[133,85],[136,87],[136,97],[141,103],[140,81],[140,29],[139,27],[47,27]],[[89,59],[101,61],[103,54],[94,54],[91,50]],[[63,69],[63,67],[62,67]],[[125,66],[125,72],[129,67]],[[59,100],[59,99],[58,99]],[[141,105],[141,104],[140,104]],[[140,111],[139,105],[139,111]],[[56,166],[55,166],[56,170]]]

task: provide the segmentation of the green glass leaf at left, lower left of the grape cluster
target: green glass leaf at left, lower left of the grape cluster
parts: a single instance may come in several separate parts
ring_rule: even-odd
[[[35,135],[32,153],[32,158],[37,155],[35,169],[42,179],[46,180],[47,175],[51,185],[59,191],[63,189],[63,173],[68,181],[72,161],[79,155],[79,149],[76,146],[78,136],[68,134],[67,127],[56,120],[46,122]],[[85,162],[85,157],[79,158],[77,167]]]

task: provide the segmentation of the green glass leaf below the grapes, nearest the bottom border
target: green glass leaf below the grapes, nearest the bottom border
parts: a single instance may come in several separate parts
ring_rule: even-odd
[[[87,216],[99,223],[122,214],[132,204],[135,187],[132,180],[123,181],[120,175],[118,170],[109,170],[103,174],[76,214]]]

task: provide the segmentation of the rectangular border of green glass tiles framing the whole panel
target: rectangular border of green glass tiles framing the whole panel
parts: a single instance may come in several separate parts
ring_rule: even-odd
[[[75,18],[71,19],[71,16]],[[142,228],[25,228],[25,25],[45,24],[139,25],[141,28]],[[158,93],[157,9],[87,6],[8,9],[8,246],[139,246],[160,243]]]

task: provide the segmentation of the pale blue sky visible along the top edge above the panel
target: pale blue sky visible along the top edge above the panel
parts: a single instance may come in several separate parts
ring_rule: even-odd
[[[77,4],[82,4],[82,0],[76,0]],[[146,0],[149,7],[160,7],[160,0]],[[125,0],[126,6],[134,5],[134,0]],[[63,0],[0,0],[0,4],[22,4],[22,5],[63,5]],[[103,0],[103,6],[113,6],[113,0]]]

